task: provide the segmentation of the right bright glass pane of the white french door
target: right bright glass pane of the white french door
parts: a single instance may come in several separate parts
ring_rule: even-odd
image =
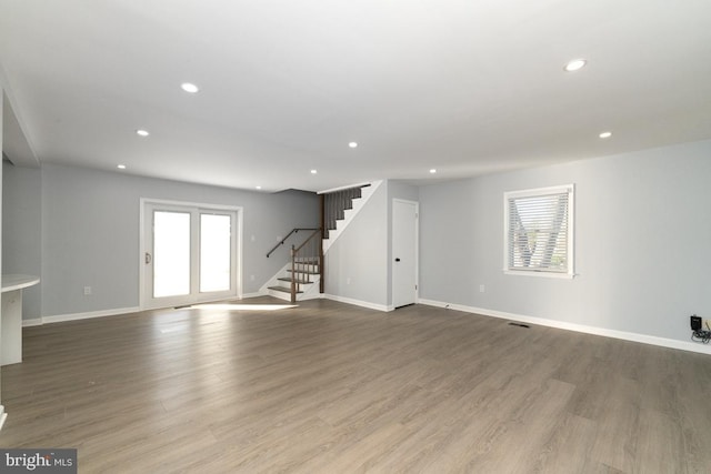
[[[200,214],[200,293],[230,290],[231,216]]]

